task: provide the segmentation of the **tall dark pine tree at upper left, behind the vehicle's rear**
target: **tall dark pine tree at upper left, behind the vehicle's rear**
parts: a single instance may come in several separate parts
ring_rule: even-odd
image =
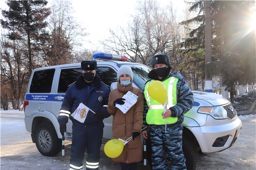
[[[9,10],[2,10],[6,20],[1,19],[3,28],[9,30],[10,40],[26,40],[29,75],[35,63],[33,57],[40,49],[40,41],[47,37],[45,30],[46,17],[50,15],[50,8],[45,8],[46,0],[7,0]]]

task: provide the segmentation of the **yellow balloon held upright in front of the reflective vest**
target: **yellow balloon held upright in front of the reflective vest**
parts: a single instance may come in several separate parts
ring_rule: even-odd
[[[149,83],[147,87],[148,94],[150,97],[155,99],[157,102],[162,103],[163,105],[166,102],[166,87],[164,83],[159,80],[155,80]]]

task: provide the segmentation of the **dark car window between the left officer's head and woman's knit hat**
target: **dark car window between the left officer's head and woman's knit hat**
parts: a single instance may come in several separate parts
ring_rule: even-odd
[[[110,67],[98,67],[96,73],[101,77],[101,81],[106,85],[117,82],[117,72]]]

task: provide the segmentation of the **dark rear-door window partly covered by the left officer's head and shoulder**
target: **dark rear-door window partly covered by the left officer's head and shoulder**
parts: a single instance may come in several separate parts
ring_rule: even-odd
[[[58,93],[66,93],[68,86],[74,83],[81,73],[81,68],[62,69],[59,78]]]

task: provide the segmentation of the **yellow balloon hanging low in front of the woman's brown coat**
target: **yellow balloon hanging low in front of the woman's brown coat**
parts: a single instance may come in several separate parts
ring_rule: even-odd
[[[104,152],[110,158],[119,157],[123,149],[124,143],[119,139],[111,139],[104,146]]]

